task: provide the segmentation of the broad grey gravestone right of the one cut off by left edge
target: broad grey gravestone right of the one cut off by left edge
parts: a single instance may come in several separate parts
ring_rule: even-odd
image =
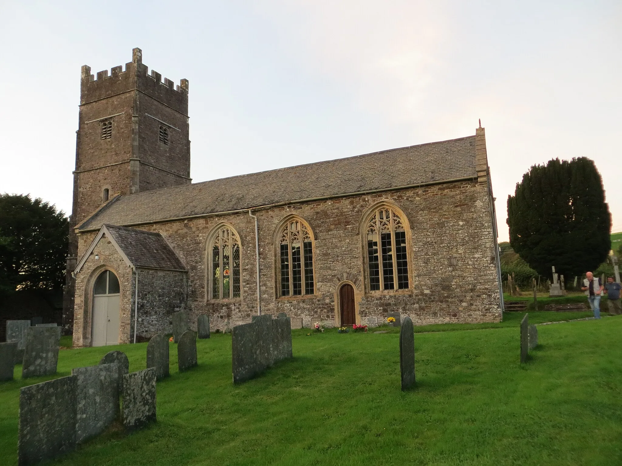
[[[53,327],[28,327],[22,378],[53,375],[58,364],[60,331]]]

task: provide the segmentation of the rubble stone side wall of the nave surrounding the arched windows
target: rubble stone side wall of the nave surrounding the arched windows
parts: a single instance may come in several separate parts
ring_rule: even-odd
[[[361,217],[381,202],[401,209],[410,226],[408,290],[368,291],[364,286]],[[253,213],[259,219],[262,313],[283,311],[290,317],[302,316],[305,322],[340,324],[338,288],[347,281],[355,288],[357,322],[389,311],[407,314],[415,324],[501,319],[493,226],[484,183],[448,183]],[[275,229],[291,214],[302,217],[315,235],[315,294],[311,296],[277,297]],[[241,298],[210,301],[205,288],[205,242],[223,222],[233,226],[241,239]],[[187,306],[193,329],[199,313],[210,314],[211,326],[220,329],[249,322],[257,313],[254,219],[248,212],[136,228],[160,232],[187,266]],[[94,235],[80,235],[78,257]]]

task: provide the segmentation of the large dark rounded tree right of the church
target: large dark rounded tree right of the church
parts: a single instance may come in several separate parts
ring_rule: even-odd
[[[611,248],[611,215],[600,174],[586,157],[534,165],[508,196],[510,244],[541,275],[582,275]]]

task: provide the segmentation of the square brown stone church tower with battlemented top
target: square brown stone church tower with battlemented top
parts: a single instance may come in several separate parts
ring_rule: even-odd
[[[63,329],[73,326],[77,239],[74,227],[116,196],[188,185],[188,80],[175,88],[168,78],[142,63],[140,48],[132,61],[91,75],[82,66],[80,116],[73,171],[73,209],[63,298]]]

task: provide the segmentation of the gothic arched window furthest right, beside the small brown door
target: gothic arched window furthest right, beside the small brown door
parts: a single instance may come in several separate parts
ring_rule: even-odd
[[[388,207],[378,209],[369,218],[366,233],[369,290],[408,288],[406,229],[397,213]]]

